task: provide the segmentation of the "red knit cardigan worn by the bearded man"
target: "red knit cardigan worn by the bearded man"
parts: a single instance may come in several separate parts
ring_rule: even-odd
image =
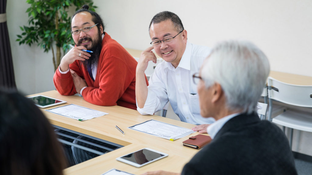
[[[100,106],[123,106],[137,109],[135,102],[135,70],[137,61],[110,35],[105,33],[97,65],[95,81],[79,60],[70,64],[88,87],[82,91],[85,101]],[[146,84],[148,80],[145,77]],[[76,94],[71,73],[62,74],[57,69],[53,77],[56,90],[62,95]]]

